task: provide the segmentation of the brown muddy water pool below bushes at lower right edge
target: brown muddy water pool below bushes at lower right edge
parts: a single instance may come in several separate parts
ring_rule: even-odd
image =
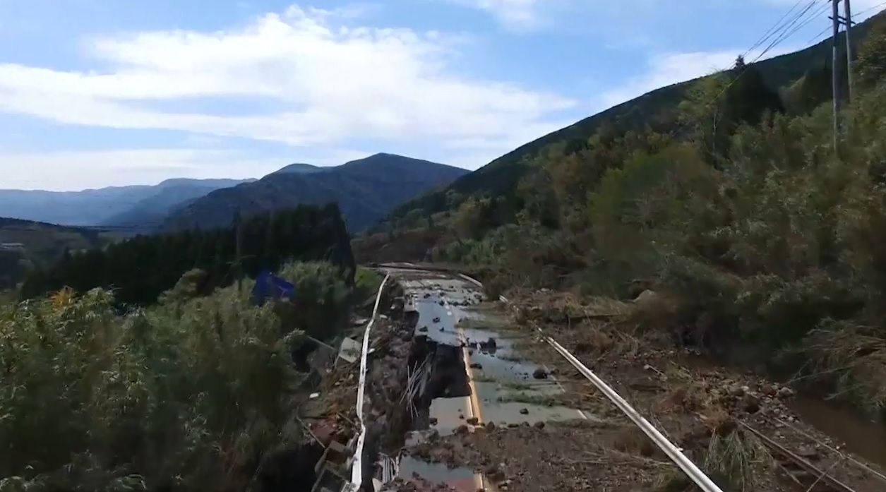
[[[861,418],[835,403],[814,398],[797,396],[789,406],[804,422],[886,470],[886,426]]]

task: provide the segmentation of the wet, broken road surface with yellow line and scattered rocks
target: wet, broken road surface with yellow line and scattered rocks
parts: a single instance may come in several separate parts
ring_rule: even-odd
[[[428,433],[455,433],[468,423],[497,426],[532,425],[537,422],[594,418],[591,414],[546,401],[563,392],[556,380],[535,379],[540,365],[518,360],[513,346],[525,341],[525,333],[513,332],[508,321],[493,303],[487,302],[477,286],[460,278],[431,272],[391,270],[407,295],[406,309],[416,316],[416,339],[424,340],[431,350],[433,363],[428,387],[434,389],[430,406],[420,410],[427,418],[413,421],[399,463],[399,476],[409,479],[413,474],[432,483],[446,482],[459,490],[476,490],[488,481],[469,469],[450,469],[446,465],[428,464],[408,457],[408,447],[424,441]],[[441,364],[440,357],[459,355],[457,368]],[[453,383],[452,374],[462,373],[462,381]],[[441,383],[441,381],[443,381]],[[439,392],[441,387],[446,391]],[[431,391],[431,390],[429,390]],[[431,425],[429,425],[429,423]]]

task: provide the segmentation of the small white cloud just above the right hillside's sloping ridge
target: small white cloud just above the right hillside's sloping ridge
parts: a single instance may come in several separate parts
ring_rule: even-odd
[[[765,58],[775,57],[796,47],[776,48]],[[602,111],[633,98],[678,82],[686,82],[703,75],[713,74],[734,66],[735,59],[744,50],[693,51],[687,53],[661,53],[651,56],[644,73],[634,76],[616,89],[605,90],[593,101],[595,111]],[[760,52],[753,51],[745,59],[758,59]]]

